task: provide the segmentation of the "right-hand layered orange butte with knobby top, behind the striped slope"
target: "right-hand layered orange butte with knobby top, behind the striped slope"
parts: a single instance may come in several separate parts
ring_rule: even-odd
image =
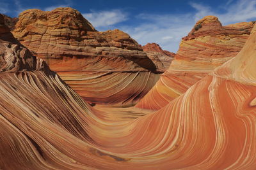
[[[241,22],[222,26],[214,16],[196,22],[188,36],[182,38],[170,67],[136,107],[159,110],[186,92],[214,68],[235,57],[253,25]]]

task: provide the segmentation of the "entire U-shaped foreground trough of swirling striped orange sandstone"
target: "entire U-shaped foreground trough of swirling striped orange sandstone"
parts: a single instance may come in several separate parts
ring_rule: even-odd
[[[256,26],[236,57],[161,110],[116,122],[33,57],[0,16],[0,167],[255,169],[255,42]]]

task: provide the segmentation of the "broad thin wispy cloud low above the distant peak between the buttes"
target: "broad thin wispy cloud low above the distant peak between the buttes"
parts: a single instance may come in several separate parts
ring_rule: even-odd
[[[176,52],[180,39],[188,34],[194,22],[190,14],[184,15],[152,15],[141,13],[137,18],[142,21],[136,26],[122,26],[141,45],[158,43],[165,50]]]

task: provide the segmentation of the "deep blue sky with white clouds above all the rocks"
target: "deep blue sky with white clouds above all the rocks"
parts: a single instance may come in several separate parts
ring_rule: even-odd
[[[206,15],[215,15],[223,25],[256,20],[255,0],[0,0],[0,13],[17,17],[31,8],[61,6],[80,11],[98,31],[120,29],[141,45],[155,42],[171,52],[177,52],[181,38]]]

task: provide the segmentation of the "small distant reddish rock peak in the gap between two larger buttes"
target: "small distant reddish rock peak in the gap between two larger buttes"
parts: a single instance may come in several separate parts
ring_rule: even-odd
[[[168,69],[175,56],[175,53],[162,50],[156,43],[147,43],[147,45],[142,46],[142,49],[147,52],[150,59],[158,58],[163,63],[164,70]]]

